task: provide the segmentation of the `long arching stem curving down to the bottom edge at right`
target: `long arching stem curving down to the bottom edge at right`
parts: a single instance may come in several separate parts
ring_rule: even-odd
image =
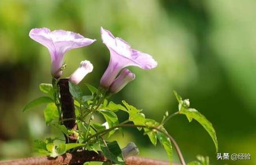
[[[178,144],[176,143],[176,141],[175,141],[175,140],[172,138],[172,136],[170,136],[167,132],[165,132],[165,131],[159,129],[158,127],[145,126],[145,125],[131,125],[131,124],[116,125],[116,126],[111,127],[110,129],[102,130],[102,131],[97,132],[96,134],[94,134],[94,135],[90,136],[89,138],[87,138],[87,140],[84,141],[84,142],[86,143],[86,142],[89,141],[90,139],[95,138],[95,137],[97,137],[97,136],[99,136],[99,135],[101,135],[101,134],[105,135],[107,132],[112,131],[112,130],[114,130],[114,129],[116,129],[116,128],[119,128],[119,127],[141,127],[141,128],[147,128],[147,129],[156,130],[156,131],[161,132],[161,133],[164,134],[165,136],[168,136],[168,138],[170,139],[170,141],[172,141],[174,147],[176,148],[177,154],[178,154],[178,156],[179,156],[179,160],[181,161],[182,165],[186,165],[186,162],[185,162],[185,160],[184,160],[184,158],[183,158],[183,155],[182,155],[182,153],[181,153],[181,150],[179,149],[179,146],[178,146]]]

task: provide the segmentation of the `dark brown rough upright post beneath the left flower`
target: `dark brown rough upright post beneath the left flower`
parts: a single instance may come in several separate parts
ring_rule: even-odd
[[[60,87],[60,102],[63,123],[69,130],[78,130],[77,123],[75,123],[74,100],[69,92],[69,79],[60,79],[58,85]],[[65,138],[66,143],[76,143],[77,141],[77,136],[75,134],[69,135],[69,137],[65,136]]]

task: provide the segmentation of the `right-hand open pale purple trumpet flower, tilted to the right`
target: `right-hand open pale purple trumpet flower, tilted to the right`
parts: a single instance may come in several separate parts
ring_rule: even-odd
[[[101,38],[110,51],[109,66],[100,80],[100,85],[103,88],[109,88],[119,72],[127,66],[137,66],[150,70],[158,65],[152,56],[131,49],[127,42],[121,38],[115,38],[108,30],[101,28]]]

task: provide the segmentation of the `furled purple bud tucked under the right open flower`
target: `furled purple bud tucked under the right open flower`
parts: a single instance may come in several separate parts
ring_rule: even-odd
[[[120,75],[111,84],[109,91],[110,93],[118,93],[124,88],[130,81],[135,79],[135,75],[127,68],[121,71]]]

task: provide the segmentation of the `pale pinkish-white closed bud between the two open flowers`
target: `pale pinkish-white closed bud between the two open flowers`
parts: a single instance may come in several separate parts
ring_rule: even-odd
[[[91,62],[85,60],[80,63],[80,66],[77,68],[77,70],[74,71],[74,73],[70,76],[69,80],[74,83],[78,84],[80,81],[83,80],[83,78],[92,72],[93,65]]]

